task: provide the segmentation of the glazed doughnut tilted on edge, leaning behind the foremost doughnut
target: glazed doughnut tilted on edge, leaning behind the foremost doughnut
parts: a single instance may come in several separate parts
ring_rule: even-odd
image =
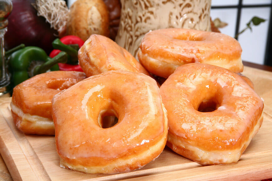
[[[101,35],[91,35],[85,41],[78,52],[78,60],[88,77],[109,70],[139,72],[149,75],[147,70],[127,50]]]

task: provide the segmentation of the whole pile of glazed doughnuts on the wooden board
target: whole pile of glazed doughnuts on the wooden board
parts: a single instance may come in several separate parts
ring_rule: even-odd
[[[141,168],[165,145],[204,165],[237,162],[264,107],[252,82],[237,74],[240,56],[229,36],[164,29],[144,36],[140,64],[109,38],[91,35],[78,55],[86,75],[50,72],[19,84],[12,115],[27,134],[47,134],[33,126],[36,117],[51,121],[61,167],[85,173]],[[166,78],[160,88],[149,72]]]

